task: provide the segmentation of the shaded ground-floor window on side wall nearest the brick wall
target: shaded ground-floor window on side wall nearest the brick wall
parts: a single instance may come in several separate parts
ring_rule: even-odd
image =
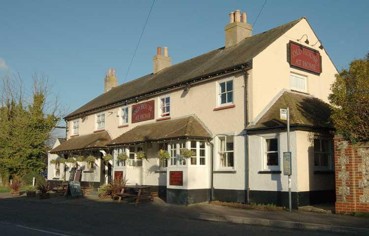
[[[314,169],[330,169],[331,159],[331,140],[323,137],[314,137]]]

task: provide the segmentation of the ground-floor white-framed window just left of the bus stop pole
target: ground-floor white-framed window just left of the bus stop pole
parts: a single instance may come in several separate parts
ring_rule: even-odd
[[[264,137],[264,169],[279,170],[279,138]]]

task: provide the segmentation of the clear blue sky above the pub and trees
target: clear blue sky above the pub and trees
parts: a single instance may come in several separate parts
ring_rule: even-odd
[[[224,46],[229,12],[253,24],[264,0],[156,0],[127,81],[151,73],[156,47],[173,64]],[[75,110],[103,92],[107,68],[123,83],[152,0],[1,0],[0,76],[19,71],[26,86],[44,72]],[[369,50],[369,1],[268,0],[253,34],[306,16],[341,69]]]

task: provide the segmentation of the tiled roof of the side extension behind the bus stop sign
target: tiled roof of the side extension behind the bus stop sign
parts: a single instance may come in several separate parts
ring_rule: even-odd
[[[290,126],[332,128],[329,104],[309,95],[285,91],[254,125],[247,130],[286,127],[287,121],[280,119],[280,108],[290,110]]]

